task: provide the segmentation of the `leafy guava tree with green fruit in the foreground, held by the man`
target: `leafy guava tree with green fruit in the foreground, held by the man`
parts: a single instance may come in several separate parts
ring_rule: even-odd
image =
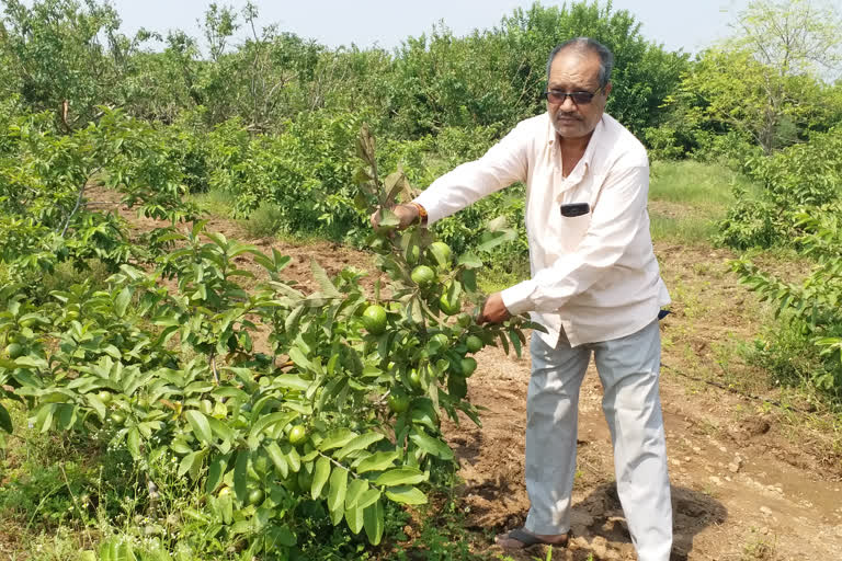
[[[357,149],[359,204],[388,206],[411,191],[400,172],[379,176],[367,131]],[[330,276],[312,262],[308,293],[285,277],[289,257],[202,221],[162,234],[172,251],[152,267],[123,264],[105,287],[84,282],[33,301],[4,286],[0,388],[37,431],[127,450],[148,516],[171,496],[166,485],[187,478],[201,500],[182,524],[202,524],[217,543],[284,558],[308,520],[323,518],[376,545],[387,502],[423,504],[436,467],[452,470],[442,417],[478,422],[466,399],[470,355],[490,344],[520,353],[534,327],[475,321],[478,255],[511,231],[490,225],[477,254],[457,256],[392,224],[386,216],[372,234],[388,279],[371,288],[363,272]],[[14,428],[2,408],[0,428]],[[174,533],[166,546],[194,537]]]

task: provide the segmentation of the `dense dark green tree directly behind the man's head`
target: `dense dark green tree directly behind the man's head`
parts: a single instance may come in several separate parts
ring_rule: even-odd
[[[611,2],[561,8],[536,2],[528,10],[514,10],[499,27],[466,38],[454,37],[444,26],[429,36],[409,38],[398,51],[400,85],[390,96],[390,112],[407,126],[414,123],[426,130],[445,123],[500,123],[510,128],[544,111],[539,95],[546,84],[547,55],[578,36],[593,37],[615,54],[608,113],[638,134],[653,126],[664,98],[686,68],[686,55],[646,41],[634,15],[615,11]]]

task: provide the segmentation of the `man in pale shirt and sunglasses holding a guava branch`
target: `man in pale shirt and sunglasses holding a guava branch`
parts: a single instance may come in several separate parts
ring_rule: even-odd
[[[524,528],[498,536],[498,543],[567,543],[579,389],[593,353],[632,539],[641,561],[668,561],[672,507],[657,318],[670,299],[649,234],[646,150],[603,113],[612,66],[611,51],[593,39],[556,47],[547,62],[547,113],[394,211],[403,227],[433,224],[514,182],[526,184],[532,278],[491,295],[480,318],[500,322],[530,311],[548,332],[533,333],[531,343],[532,506]]]

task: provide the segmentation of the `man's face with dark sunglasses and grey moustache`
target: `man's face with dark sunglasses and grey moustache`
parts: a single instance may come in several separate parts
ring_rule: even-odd
[[[600,87],[600,57],[595,53],[566,49],[556,55],[549,67],[547,90],[566,93],[594,92]],[[582,138],[596,128],[605,111],[611,83],[593,96],[590,103],[573,103],[565,98],[561,103],[547,100],[547,112],[556,133],[562,138]]]

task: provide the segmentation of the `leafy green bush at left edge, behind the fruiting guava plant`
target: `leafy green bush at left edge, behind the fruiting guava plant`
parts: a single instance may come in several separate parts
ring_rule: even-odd
[[[157,244],[134,245],[122,219],[88,208],[96,182],[120,192],[122,203],[149,218],[174,224],[195,208],[182,201],[183,175],[170,158],[167,136],[118,111],[61,135],[48,113],[19,116],[0,153],[0,263],[15,282],[37,289],[59,263],[77,270],[99,262],[116,271],[153,259]],[[153,238],[155,232],[152,232]]]

